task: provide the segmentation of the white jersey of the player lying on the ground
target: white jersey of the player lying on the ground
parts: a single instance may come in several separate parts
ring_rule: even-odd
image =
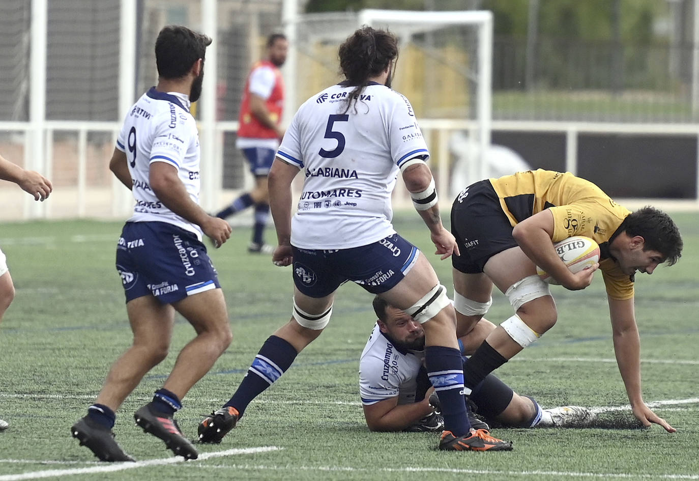
[[[399,351],[375,324],[359,359],[361,403],[375,404],[398,396],[398,404],[415,402],[417,373],[424,351]]]

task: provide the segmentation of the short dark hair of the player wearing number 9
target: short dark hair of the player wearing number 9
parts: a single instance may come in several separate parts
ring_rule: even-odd
[[[155,41],[155,64],[162,78],[184,77],[192,65],[204,58],[211,38],[181,25],[168,25]]]

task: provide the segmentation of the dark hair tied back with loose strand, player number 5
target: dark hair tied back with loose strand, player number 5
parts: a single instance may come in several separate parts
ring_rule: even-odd
[[[379,76],[394,59],[398,58],[398,38],[387,30],[364,26],[340,45],[340,70],[349,85],[354,86],[347,96],[347,108],[356,103],[369,78]]]

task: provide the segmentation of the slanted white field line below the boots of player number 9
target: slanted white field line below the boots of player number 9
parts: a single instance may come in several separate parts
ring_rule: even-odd
[[[280,449],[282,448],[277,446],[263,446],[247,447],[243,449],[233,449],[218,452],[205,452],[199,454],[199,460],[232,456],[233,454],[254,454],[258,452],[269,452]],[[79,474],[113,473],[115,471],[125,471],[127,469],[145,468],[147,466],[163,466],[164,464],[176,464],[184,462],[185,458],[178,456],[161,459],[148,459],[147,461],[136,461],[135,463],[110,463],[101,466],[90,466],[88,468],[47,469],[43,471],[32,471],[30,473],[0,475],[0,481],[38,480],[41,478],[59,478],[61,476],[74,476]],[[196,463],[196,461],[189,461],[189,463]]]

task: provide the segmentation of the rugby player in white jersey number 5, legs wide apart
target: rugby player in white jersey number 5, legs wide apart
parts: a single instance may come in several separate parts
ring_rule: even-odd
[[[298,109],[269,174],[279,244],[273,262],[293,264],[291,320],[266,340],[228,403],[199,424],[199,440],[220,442],[250,401],[320,335],[336,289],[352,280],[423,324],[426,368],[445,419],[440,449],[511,450],[512,443],[470,429],[454,308],[424,254],[391,224],[391,191],[401,174],[436,253],[459,254],[442,226],[412,106],[390,88],[397,39],[363,27],[340,45],[339,57],[345,81]],[[291,182],[300,171],[305,182],[292,221]]]

